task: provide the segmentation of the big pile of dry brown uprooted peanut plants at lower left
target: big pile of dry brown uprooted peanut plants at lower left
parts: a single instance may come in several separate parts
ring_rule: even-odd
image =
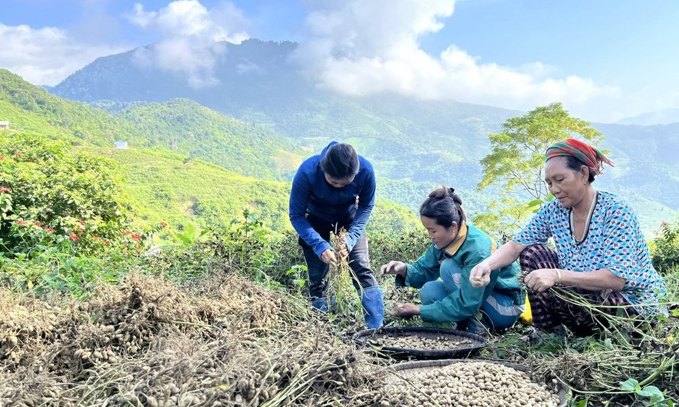
[[[0,406],[370,406],[370,356],[235,275],[128,276],[86,302],[0,291]]]

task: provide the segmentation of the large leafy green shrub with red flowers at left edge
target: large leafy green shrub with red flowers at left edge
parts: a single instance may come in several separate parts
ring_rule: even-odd
[[[122,234],[138,227],[112,162],[31,134],[2,137],[0,156],[0,252],[6,257],[51,246],[84,255],[140,246],[142,233],[134,233],[138,239]]]

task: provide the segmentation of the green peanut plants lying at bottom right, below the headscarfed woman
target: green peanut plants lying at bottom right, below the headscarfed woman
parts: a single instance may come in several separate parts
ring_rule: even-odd
[[[669,317],[630,317],[620,307],[608,315],[561,287],[556,296],[589,310],[599,322],[590,337],[567,330],[547,333],[533,328],[495,335],[483,357],[528,365],[541,380],[556,380],[571,389],[572,406],[673,406],[679,399],[679,302],[666,301]]]

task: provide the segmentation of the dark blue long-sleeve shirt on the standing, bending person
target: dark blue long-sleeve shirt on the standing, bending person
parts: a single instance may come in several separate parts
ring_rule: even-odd
[[[319,155],[314,155],[302,163],[292,181],[290,192],[290,222],[318,257],[325,250],[332,249],[332,246],[313,230],[305,216],[307,213],[334,223],[346,218],[356,207],[354,220],[346,237],[346,245],[351,250],[366,229],[370,213],[375,206],[375,173],[370,161],[360,155],[359,172],[354,181],[342,188],[335,188],[326,181],[325,173],[319,164],[333,144],[337,142],[331,142]]]

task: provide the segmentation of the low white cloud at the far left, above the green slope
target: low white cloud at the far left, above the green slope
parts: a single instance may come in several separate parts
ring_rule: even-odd
[[[125,47],[79,42],[64,29],[0,23],[0,67],[38,85],[56,85],[97,57]]]

